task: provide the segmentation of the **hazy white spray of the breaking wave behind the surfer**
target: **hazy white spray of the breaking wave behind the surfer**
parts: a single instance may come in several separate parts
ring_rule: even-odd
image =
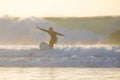
[[[59,21],[57,22],[59,23]],[[67,23],[76,25],[75,22]],[[90,23],[88,23],[90,24]],[[98,24],[99,25],[99,24]],[[0,18],[0,44],[38,44],[42,41],[49,41],[49,35],[36,29],[36,26],[48,29],[52,26],[55,31],[65,35],[58,37],[58,44],[98,44],[104,43],[108,34],[98,34],[93,30],[86,28],[69,29],[69,26],[61,26],[49,20],[29,17],[29,18],[12,18],[4,16]],[[96,26],[97,27],[97,26]],[[111,27],[110,27],[111,28]],[[112,30],[112,28],[109,30]],[[108,30],[108,31],[109,31]],[[114,30],[114,29],[113,29]],[[112,31],[110,31],[112,32]],[[109,33],[110,33],[109,32]]]

